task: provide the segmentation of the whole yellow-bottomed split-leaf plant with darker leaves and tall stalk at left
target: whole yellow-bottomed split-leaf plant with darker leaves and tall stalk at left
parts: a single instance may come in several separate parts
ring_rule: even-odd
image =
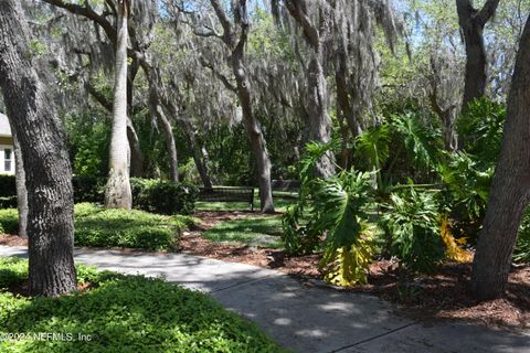
[[[312,176],[312,161],[331,147],[311,143],[306,150],[300,201],[284,215],[284,242],[295,254],[324,249],[319,265],[326,281],[365,284],[373,253],[365,213],[373,204],[371,175],[352,169],[327,179]]]

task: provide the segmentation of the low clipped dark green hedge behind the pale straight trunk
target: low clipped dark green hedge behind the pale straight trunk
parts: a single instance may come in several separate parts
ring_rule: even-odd
[[[103,203],[104,178],[73,176],[74,201]],[[188,183],[131,178],[132,206],[161,214],[190,214],[194,210],[199,189]],[[17,206],[14,175],[0,175],[0,207]]]

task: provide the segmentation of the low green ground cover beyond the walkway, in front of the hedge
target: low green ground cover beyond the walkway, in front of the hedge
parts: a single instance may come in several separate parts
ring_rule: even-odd
[[[75,245],[171,249],[182,229],[193,222],[190,216],[106,210],[95,204],[80,203],[75,205]],[[17,232],[17,210],[0,210],[0,233]]]

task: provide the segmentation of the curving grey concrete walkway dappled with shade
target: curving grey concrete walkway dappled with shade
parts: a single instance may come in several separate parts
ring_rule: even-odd
[[[26,256],[26,249],[0,246],[0,256]],[[102,269],[162,276],[206,291],[295,352],[530,352],[530,333],[463,323],[425,325],[394,314],[388,302],[375,297],[305,287],[250,265],[184,254],[113,250],[76,250],[75,259]]]

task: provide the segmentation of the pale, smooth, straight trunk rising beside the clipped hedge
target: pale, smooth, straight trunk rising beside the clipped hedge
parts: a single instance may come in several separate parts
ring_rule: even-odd
[[[125,210],[130,210],[132,204],[127,153],[127,18],[129,10],[129,1],[118,1],[113,130],[108,181],[105,190],[105,206]]]

